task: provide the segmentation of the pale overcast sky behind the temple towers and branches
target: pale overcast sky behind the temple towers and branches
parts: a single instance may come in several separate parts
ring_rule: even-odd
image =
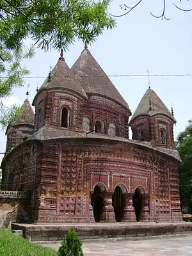
[[[120,14],[118,5],[123,0],[113,1],[110,12]],[[137,0],[136,0],[137,1]],[[129,5],[136,3],[129,1]],[[152,3],[154,2],[154,3]],[[118,24],[113,31],[106,31],[97,42],[89,46],[92,55],[108,75],[147,74],[192,74],[191,42],[192,42],[192,12],[181,12],[173,6],[172,1],[166,1],[166,17],[170,20],[155,19],[150,15],[161,15],[163,0],[143,3],[128,15],[118,18]],[[191,1],[182,0],[182,8],[192,8]],[[127,2],[126,2],[127,3]],[[175,0],[179,4],[179,0]],[[71,67],[83,50],[83,43],[77,42],[65,53],[65,60]],[[59,54],[56,51],[44,53],[38,49],[32,60],[24,63],[31,70],[30,76],[47,76],[49,67],[54,67]],[[141,97],[148,88],[148,77],[110,77],[116,88],[129,104],[132,113]],[[13,97],[6,100],[22,104],[26,99],[27,85],[29,100],[32,102],[36,86],[42,84],[44,78],[26,79],[26,87],[15,90]],[[191,114],[192,76],[159,76],[150,78],[150,86],[163,100],[164,104],[173,110],[177,125],[175,136],[183,131]],[[0,152],[4,152],[6,137],[0,132]],[[0,161],[3,154],[0,154]]]

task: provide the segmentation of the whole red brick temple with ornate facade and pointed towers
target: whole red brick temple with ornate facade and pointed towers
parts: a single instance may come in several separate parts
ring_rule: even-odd
[[[85,47],[72,68],[61,52],[33,106],[7,129],[1,164],[2,189],[29,191],[31,220],[182,220],[176,120],[154,90],[132,115]]]

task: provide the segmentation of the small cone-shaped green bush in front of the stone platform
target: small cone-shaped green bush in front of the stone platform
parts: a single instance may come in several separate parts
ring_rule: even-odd
[[[82,243],[76,231],[70,229],[63,238],[61,247],[58,250],[58,256],[83,256],[81,245]]]

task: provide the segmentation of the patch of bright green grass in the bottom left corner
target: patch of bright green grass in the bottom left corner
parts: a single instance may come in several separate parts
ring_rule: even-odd
[[[26,239],[0,228],[1,256],[56,256],[55,250],[29,243]]]

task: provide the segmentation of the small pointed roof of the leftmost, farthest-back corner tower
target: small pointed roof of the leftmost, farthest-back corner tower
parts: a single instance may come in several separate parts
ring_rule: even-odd
[[[22,111],[20,115],[18,116],[17,120],[15,120],[13,125],[18,124],[34,124],[34,118],[35,114],[33,112],[33,109],[31,108],[31,104],[29,103],[29,100],[26,99],[24,103],[22,104]]]

